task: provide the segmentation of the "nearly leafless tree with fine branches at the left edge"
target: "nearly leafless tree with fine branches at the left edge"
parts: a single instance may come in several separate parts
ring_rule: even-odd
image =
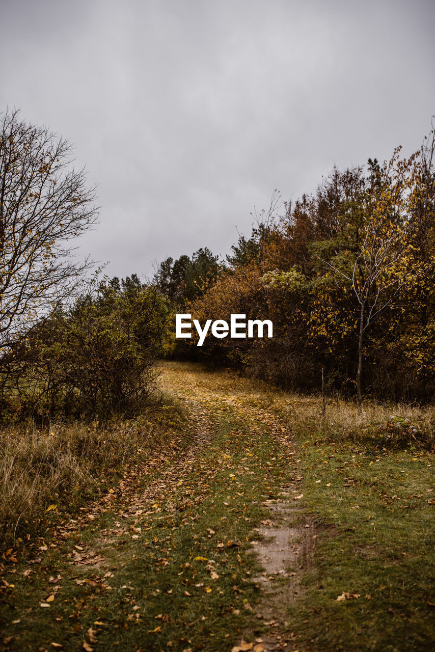
[[[72,145],[6,111],[0,123],[0,351],[65,299],[89,261],[70,239],[97,220],[95,188],[71,168]]]

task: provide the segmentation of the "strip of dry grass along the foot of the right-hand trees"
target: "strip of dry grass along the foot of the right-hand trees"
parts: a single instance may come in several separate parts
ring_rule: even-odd
[[[356,402],[342,398],[326,398],[323,413],[323,400],[320,395],[298,394],[279,389],[272,383],[259,379],[240,377],[230,369],[220,370],[218,374],[199,363],[160,363],[170,373],[173,382],[177,374],[185,382],[185,374],[202,374],[205,385],[213,385],[220,378],[224,393],[239,396],[253,408],[276,411],[285,419],[288,428],[297,435],[299,441],[310,437],[314,443],[342,442],[361,443],[368,447],[405,447],[414,445],[434,450],[435,446],[435,406],[417,404],[380,403],[366,400],[359,414]],[[390,427],[391,417],[408,419],[413,429],[405,424]],[[415,432],[416,431],[416,432]],[[391,436],[393,435],[393,436]]]

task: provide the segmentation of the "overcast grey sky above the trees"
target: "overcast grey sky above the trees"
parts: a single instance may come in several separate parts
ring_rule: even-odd
[[[201,246],[334,164],[419,148],[434,0],[0,0],[0,111],[75,146],[98,185],[83,254],[106,273]]]

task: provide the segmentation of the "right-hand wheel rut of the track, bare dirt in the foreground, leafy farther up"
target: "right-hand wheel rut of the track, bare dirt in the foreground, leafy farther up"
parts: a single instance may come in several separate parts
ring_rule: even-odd
[[[173,390],[176,383],[166,385],[167,389]],[[198,398],[201,397],[202,404],[207,406],[224,404],[231,406],[238,412],[239,419],[250,419],[254,422],[263,422],[273,436],[286,447],[289,458],[295,454],[291,434],[282,428],[282,423],[277,417],[264,408],[255,405],[255,398],[252,400],[252,387],[243,391],[238,387],[236,391],[228,393],[226,383],[216,385],[213,381],[203,380],[198,387],[196,385],[196,396],[194,399],[187,399],[193,405],[198,406]],[[192,385],[189,383],[189,387]],[[185,389],[182,391],[186,391]],[[190,394],[190,391],[187,391]],[[199,395],[199,396],[198,396]],[[246,629],[245,638],[256,638],[265,652],[282,650],[288,647],[288,642],[295,640],[294,634],[286,632],[288,606],[297,600],[301,591],[301,574],[311,567],[311,551],[314,547],[316,527],[312,520],[306,516],[302,517],[300,510],[295,507],[292,501],[301,499],[297,489],[297,483],[302,480],[301,475],[294,475],[292,483],[281,488],[277,494],[280,497],[267,499],[265,505],[269,510],[268,518],[260,521],[258,526],[252,529],[252,541],[250,545],[255,553],[258,564],[262,568],[261,574],[254,576],[252,582],[260,585],[263,591],[262,599],[256,608],[256,617],[264,625],[270,627],[267,634],[262,638],[256,636],[259,632],[255,629]],[[297,494],[295,496],[295,494]],[[277,581],[278,580],[278,581]],[[255,646],[254,646],[255,647]],[[240,644],[235,644],[234,649],[241,651],[250,649],[250,643],[243,638]]]

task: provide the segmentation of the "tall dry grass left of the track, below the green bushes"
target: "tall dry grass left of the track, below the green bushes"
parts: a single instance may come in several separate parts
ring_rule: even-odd
[[[77,509],[98,492],[101,481],[162,445],[184,420],[165,397],[131,421],[1,428],[0,536],[13,545],[19,534],[40,529],[50,512]]]

